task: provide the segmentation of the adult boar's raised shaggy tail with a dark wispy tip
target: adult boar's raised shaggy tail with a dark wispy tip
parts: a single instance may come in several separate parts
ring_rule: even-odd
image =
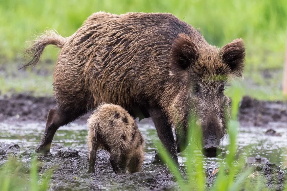
[[[35,66],[39,63],[42,53],[45,47],[49,44],[53,44],[59,48],[62,48],[63,45],[67,42],[68,38],[64,38],[57,33],[55,30],[45,31],[43,34],[38,36],[36,40],[33,40],[29,48],[24,51],[24,54],[29,58],[32,58],[30,62],[22,66],[24,68],[26,66]],[[20,69],[21,69],[20,68]]]

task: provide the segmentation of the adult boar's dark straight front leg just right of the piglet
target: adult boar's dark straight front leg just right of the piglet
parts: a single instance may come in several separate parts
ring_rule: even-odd
[[[154,126],[156,127],[156,132],[158,133],[160,141],[170,153],[175,164],[179,166],[177,158],[177,145],[172,133],[172,125],[168,123],[168,119],[160,108],[150,109],[149,114],[154,122]]]

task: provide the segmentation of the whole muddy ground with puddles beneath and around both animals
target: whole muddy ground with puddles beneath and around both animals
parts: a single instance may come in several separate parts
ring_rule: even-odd
[[[0,139],[0,164],[3,165],[7,161],[9,154],[18,157],[20,161],[28,164],[34,148],[39,142],[44,130],[44,123],[49,109],[55,106],[55,101],[49,97],[33,97],[29,94],[13,94],[11,97],[0,95],[0,131],[2,132]],[[63,127],[63,131],[57,132],[55,141],[53,142],[51,153],[44,156],[38,155],[38,159],[42,161],[40,173],[45,172],[49,168],[55,168],[55,172],[51,180],[51,190],[177,190],[177,184],[174,177],[168,172],[166,166],[161,164],[152,164],[155,149],[148,139],[150,132],[155,132],[153,124],[150,120],[143,120],[139,123],[140,130],[147,141],[146,161],[143,169],[135,174],[114,174],[109,164],[108,155],[99,153],[96,160],[96,172],[87,174],[87,148],[84,142],[86,136],[86,119],[89,115],[82,117],[70,126]],[[238,120],[242,126],[257,127],[260,129],[270,129],[274,123],[280,124],[282,132],[286,131],[283,124],[287,122],[287,103],[283,102],[264,102],[244,97],[241,101]],[[276,126],[278,127],[278,126]],[[66,128],[66,130],[65,130]],[[258,129],[259,128],[259,129]],[[61,128],[60,128],[61,129]],[[73,129],[73,131],[67,131]],[[273,131],[272,131],[273,130]],[[263,137],[281,137],[283,148],[286,139],[284,133],[276,132],[274,128],[269,130]],[[265,130],[262,130],[265,132]],[[11,133],[12,132],[12,133]],[[239,134],[243,135],[247,130],[244,129]],[[61,134],[64,134],[61,137]],[[254,133],[256,135],[256,133]],[[282,135],[284,134],[284,135]],[[246,135],[249,135],[248,132]],[[243,135],[244,139],[246,135]],[[57,138],[58,136],[58,138]],[[70,137],[69,137],[70,136]],[[78,136],[78,137],[77,137]],[[282,137],[283,136],[283,137]],[[80,137],[80,138],[79,138]],[[281,140],[277,138],[276,141]],[[240,141],[239,137],[239,141]],[[273,140],[273,139],[272,139]],[[269,142],[268,142],[269,143]],[[283,144],[284,143],[284,144]],[[262,145],[264,146],[265,143]],[[272,143],[271,143],[272,144]],[[262,146],[261,145],[261,146]],[[265,144],[266,145],[266,144]],[[267,144],[268,145],[268,144]],[[243,149],[244,145],[241,149]],[[283,181],[286,179],[287,169],[284,163],[279,163],[270,155],[275,155],[278,148],[266,147],[265,155],[257,156],[258,153],[251,152],[247,157],[254,157],[255,162],[262,163],[255,168],[255,174],[258,172],[267,178],[266,185],[275,190],[282,190]],[[255,148],[255,150],[258,150]],[[264,153],[261,151],[261,153]],[[225,153],[223,149],[222,155]],[[278,158],[284,157],[286,154],[277,153]],[[266,157],[265,161],[261,161]],[[250,158],[249,158],[250,159]],[[274,161],[278,162],[272,163]],[[184,157],[179,156],[181,168],[185,171]],[[212,174],[219,166],[220,159],[206,159],[205,167],[207,171],[207,186],[212,186],[216,178],[216,173]],[[253,161],[253,160],[251,160]],[[270,161],[270,162],[269,162]],[[250,162],[250,161],[249,161]],[[254,165],[248,164],[247,166]],[[284,169],[285,168],[285,169]],[[254,174],[253,174],[254,175]]]

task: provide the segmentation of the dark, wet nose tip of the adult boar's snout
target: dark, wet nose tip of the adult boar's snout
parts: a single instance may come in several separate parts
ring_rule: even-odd
[[[204,141],[201,152],[206,157],[216,157],[222,152],[222,148],[219,147],[219,140],[211,138]]]

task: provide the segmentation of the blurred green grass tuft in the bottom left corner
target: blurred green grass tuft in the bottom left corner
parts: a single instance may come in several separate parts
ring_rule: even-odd
[[[39,165],[35,157],[32,157],[30,166],[19,162],[16,158],[9,157],[8,161],[0,166],[0,190],[48,190],[53,169],[38,174]]]

